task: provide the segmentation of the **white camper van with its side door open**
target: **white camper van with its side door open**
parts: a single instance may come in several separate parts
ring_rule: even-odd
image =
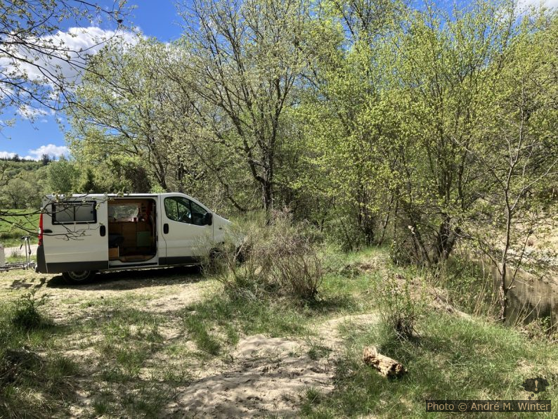
[[[37,272],[84,283],[96,271],[200,264],[229,224],[183,193],[47,195]]]

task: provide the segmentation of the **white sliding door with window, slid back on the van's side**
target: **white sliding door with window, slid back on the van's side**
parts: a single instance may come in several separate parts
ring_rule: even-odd
[[[44,202],[43,247],[48,273],[108,269],[106,199]]]

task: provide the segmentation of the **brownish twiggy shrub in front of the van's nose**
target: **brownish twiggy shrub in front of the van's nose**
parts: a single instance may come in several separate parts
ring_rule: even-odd
[[[294,223],[288,212],[273,212],[267,221],[260,215],[233,228],[206,269],[236,297],[314,299],[323,269],[313,237],[312,227]]]

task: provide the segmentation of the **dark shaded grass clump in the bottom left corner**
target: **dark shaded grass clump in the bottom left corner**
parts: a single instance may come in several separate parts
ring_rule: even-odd
[[[69,415],[70,379],[79,368],[51,349],[60,330],[38,305],[34,293],[27,293],[0,309],[0,418]]]

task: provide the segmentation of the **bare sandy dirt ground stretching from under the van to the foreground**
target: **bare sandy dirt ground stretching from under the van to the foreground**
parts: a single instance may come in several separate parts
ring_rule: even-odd
[[[307,389],[327,394],[333,388],[333,362],[342,351],[338,326],[377,321],[376,314],[333,317],[316,325],[315,332],[304,339],[264,334],[240,336],[228,353],[208,359],[195,356],[195,342],[180,321],[184,307],[219,288],[195,270],[103,273],[93,283],[80,286],[65,285],[60,276],[14,272],[0,273],[0,295],[4,302],[36,289],[37,295],[48,295],[48,304],[43,309],[56,325],[72,325],[76,330],[64,337],[63,344],[64,356],[80,366],[74,382],[77,401],[70,408],[74,417],[94,415],[93,404],[98,394],[120,391],[117,386],[103,388],[99,380],[106,356],[99,347],[106,337],[76,328],[76,324],[109,316],[110,307],[134,307],[148,317],[161,319],[157,329],[162,337],[160,350],[144,362],[138,378],[143,383],[134,387],[143,389],[146,384],[169,392],[171,397],[167,397],[159,413],[165,417],[297,416],[297,406]],[[323,356],[311,356],[309,349],[316,345],[323,350]],[[173,348],[180,348],[179,353]],[[169,383],[155,374],[162,368],[186,370],[188,380]]]

